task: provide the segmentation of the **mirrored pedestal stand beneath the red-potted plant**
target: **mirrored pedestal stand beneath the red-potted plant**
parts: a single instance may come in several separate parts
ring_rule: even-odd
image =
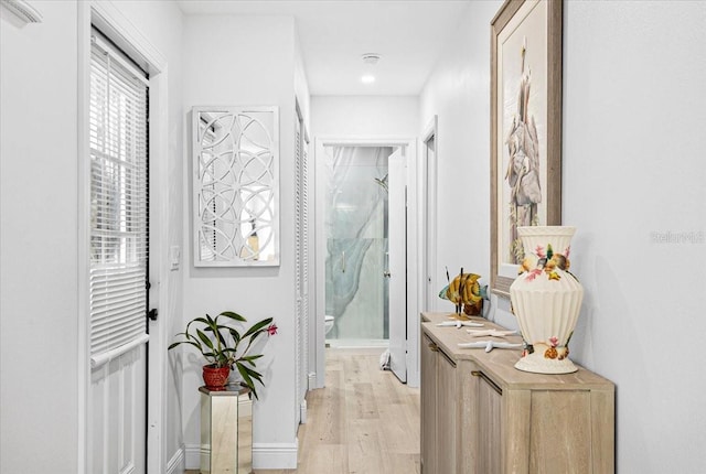
[[[248,388],[201,392],[201,474],[253,472],[253,401]]]

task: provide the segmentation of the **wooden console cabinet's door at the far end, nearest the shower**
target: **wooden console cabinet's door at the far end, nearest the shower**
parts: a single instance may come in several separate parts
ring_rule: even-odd
[[[421,472],[437,474],[437,346],[426,335],[420,351]]]

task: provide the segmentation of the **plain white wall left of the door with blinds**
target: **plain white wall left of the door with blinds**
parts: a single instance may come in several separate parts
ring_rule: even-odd
[[[0,472],[73,474],[77,10],[40,9],[40,24],[0,19]]]

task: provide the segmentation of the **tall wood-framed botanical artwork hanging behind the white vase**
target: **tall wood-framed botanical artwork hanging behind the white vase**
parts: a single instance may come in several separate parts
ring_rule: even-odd
[[[491,22],[491,291],[524,258],[517,227],[561,223],[561,0],[507,0]]]

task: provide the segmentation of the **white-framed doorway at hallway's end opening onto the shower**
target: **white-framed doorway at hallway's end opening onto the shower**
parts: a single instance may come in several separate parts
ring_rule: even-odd
[[[325,383],[327,343],[332,348],[379,347],[381,353],[389,348],[395,375],[406,381],[411,371],[418,379],[418,319],[411,316],[417,314],[417,284],[407,278],[416,274],[416,186],[409,185],[416,180],[415,142],[317,139],[313,387]],[[397,200],[389,194],[395,155],[403,163],[393,172],[402,184]],[[403,216],[402,224],[389,220],[395,215]],[[327,315],[333,317],[328,333]]]

